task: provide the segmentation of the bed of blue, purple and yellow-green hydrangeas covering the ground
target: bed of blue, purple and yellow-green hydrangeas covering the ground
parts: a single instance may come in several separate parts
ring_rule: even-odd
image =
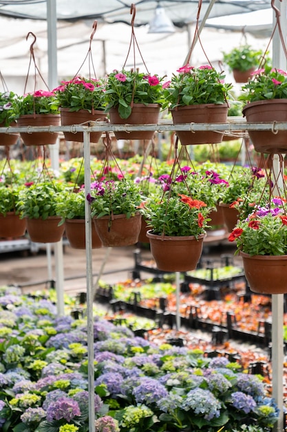
[[[0,425],[5,432],[89,430],[86,322],[56,317],[55,309],[50,300],[35,302],[17,288],[1,288]],[[243,373],[240,364],[157,346],[98,318],[94,371],[97,432],[264,432],[277,420],[277,406],[264,384]]]

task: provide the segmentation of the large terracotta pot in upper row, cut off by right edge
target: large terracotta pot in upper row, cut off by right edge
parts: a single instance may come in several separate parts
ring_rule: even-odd
[[[244,106],[243,115],[248,123],[287,121],[287,99],[251,102]],[[248,130],[255,150],[259,153],[286,153],[287,130],[273,133],[269,130]]]

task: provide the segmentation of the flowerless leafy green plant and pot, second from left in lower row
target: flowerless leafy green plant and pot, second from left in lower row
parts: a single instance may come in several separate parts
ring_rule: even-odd
[[[26,219],[27,230],[32,242],[59,242],[64,226],[59,226],[61,217],[56,213],[59,195],[63,193],[63,185],[58,182],[26,184],[19,192],[17,210]]]

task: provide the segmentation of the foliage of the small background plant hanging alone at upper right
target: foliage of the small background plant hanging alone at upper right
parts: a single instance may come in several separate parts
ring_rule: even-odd
[[[263,55],[262,50],[255,50],[250,45],[243,45],[233,48],[230,52],[223,52],[223,61],[231,71],[237,69],[245,72],[259,66]]]

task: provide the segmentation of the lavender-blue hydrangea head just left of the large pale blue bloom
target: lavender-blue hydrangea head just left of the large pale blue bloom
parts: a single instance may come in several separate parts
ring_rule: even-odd
[[[140,385],[133,391],[136,402],[144,404],[153,404],[168,394],[167,389],[158,380],[148,377],[141,377]]]

